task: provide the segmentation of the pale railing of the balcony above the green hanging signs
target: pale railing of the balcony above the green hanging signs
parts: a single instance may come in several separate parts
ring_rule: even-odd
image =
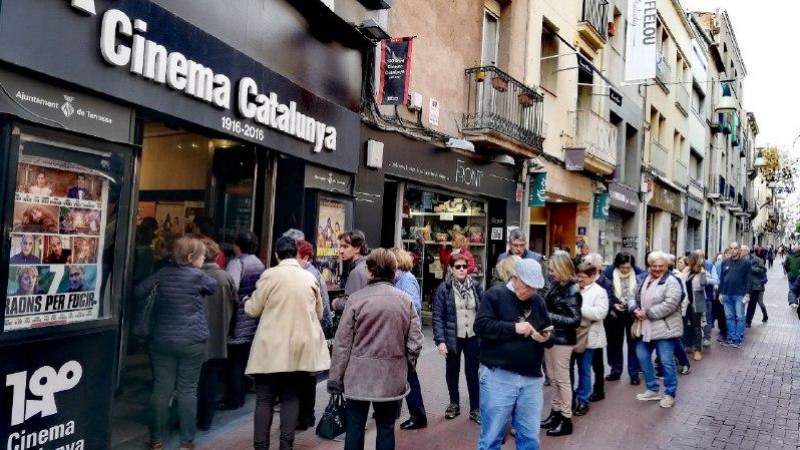
[[[569,112],[569,121],[575,126],[573,147],[585,147],[586,152],[612,166],[617,164],[617,127],[592,110]]]

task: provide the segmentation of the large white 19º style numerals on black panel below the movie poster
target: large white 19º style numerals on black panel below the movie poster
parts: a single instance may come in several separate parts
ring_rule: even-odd
[[[6,386],[13,389],[11,425],[19,425],[36,414],[47,417],[58,413],[55,394],[77,386],[82,375],[83,367],[77,361],[64,363],[58,372],[50,366],[40,367],[30,380],[27,371],[6,375]],[[40,399],[28,400],[27,390]]]

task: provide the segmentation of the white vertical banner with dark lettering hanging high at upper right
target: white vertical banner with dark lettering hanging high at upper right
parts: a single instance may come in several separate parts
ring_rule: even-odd
[[[655,0],[628,0],[625,81],[655,78],[657,21]]]

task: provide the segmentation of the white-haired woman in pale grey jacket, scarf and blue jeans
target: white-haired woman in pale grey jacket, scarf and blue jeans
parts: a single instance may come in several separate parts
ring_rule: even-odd
[[[647,256],[650,273],[639,286],[632,313],[641,321],[641,341],[637,344],[647,390],[637,400],[659,400],[662,408],[675,404],[678,391],[678,370],[675,365],[675,346],[683,336],[680,281],[668,270],[667,254],[654,251]],[[661,360],[664,374],[664,394],[653,368],[653,350]]]

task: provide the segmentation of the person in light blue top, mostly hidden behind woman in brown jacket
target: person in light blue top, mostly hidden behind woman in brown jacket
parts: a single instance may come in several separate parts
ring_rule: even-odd
[[[399,247],[392,247],[389,252],[397,260],[397,272],[394,276],[394,287],[400,289],[411,297],[414,303],[414,310],[422,320],[422,289],[417,278],[411,273],[414,268],[414,260],[411,254]],[[416,367],[408,368],[409,393],[406,396],[406,406],[411,417],[400,424],[401,430],[418,430],[428,426],[428,413],[425,412],[425,402],[422,400],[422,386],[419,383],[419,375]]]

